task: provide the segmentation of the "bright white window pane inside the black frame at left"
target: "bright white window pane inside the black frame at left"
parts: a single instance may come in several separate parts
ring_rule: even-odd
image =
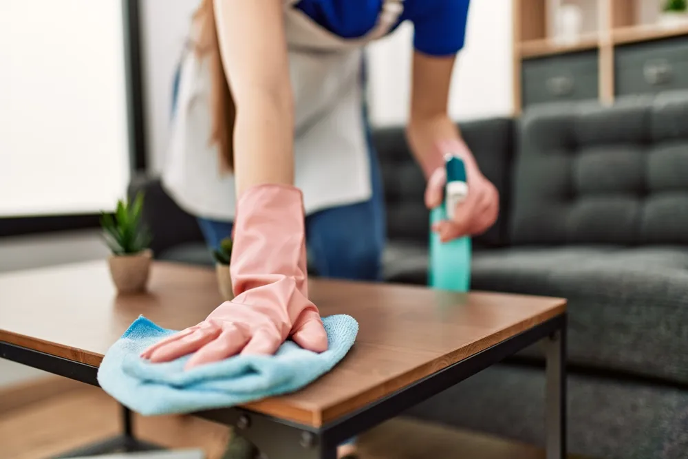
[[[114,209],[129,180],[121,0],[1,0],[0,215]]]

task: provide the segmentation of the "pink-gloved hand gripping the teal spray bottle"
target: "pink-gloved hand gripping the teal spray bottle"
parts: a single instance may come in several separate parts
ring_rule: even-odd
[[[444,156],[453,153],[464,160],[469,194],[460,202],[454,212],[453,220],[444,220],[433,225],[432,231],[440,235],[442,242],[464,236],[480,235],[487,231],[499,215],[499,193],[495,186],[482,175],[468,147],[455,140],[440,142],[439,153]],[[425,205],[428,209],[442,204],[444,185],[447,184],[447,171],[438,167],[428,180],[425,189]]]

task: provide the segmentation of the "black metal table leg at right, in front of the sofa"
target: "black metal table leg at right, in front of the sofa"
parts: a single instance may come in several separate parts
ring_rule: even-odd
[[[546,456],[566,458],[566,321],[546,339]]]

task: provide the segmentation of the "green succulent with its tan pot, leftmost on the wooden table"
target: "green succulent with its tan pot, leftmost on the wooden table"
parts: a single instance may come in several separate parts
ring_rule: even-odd
[[[146,290],[151,267],[151,235],[141,224],[143,194],[133,203],[119,200],[114,215],[103,213],[100,225],[112,254],[108,258],[110,275],[118,292]]]

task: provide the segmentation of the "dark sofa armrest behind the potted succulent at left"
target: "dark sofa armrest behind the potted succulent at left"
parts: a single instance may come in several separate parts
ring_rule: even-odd
[[[152,233],[151,250],[156,258],[169,248],[204,240],[195,217],[180,209],[170,198],[160,178],[144,174],[134,176],[127,190],[129,199],[139,191],[144,193],[142,221]]]

